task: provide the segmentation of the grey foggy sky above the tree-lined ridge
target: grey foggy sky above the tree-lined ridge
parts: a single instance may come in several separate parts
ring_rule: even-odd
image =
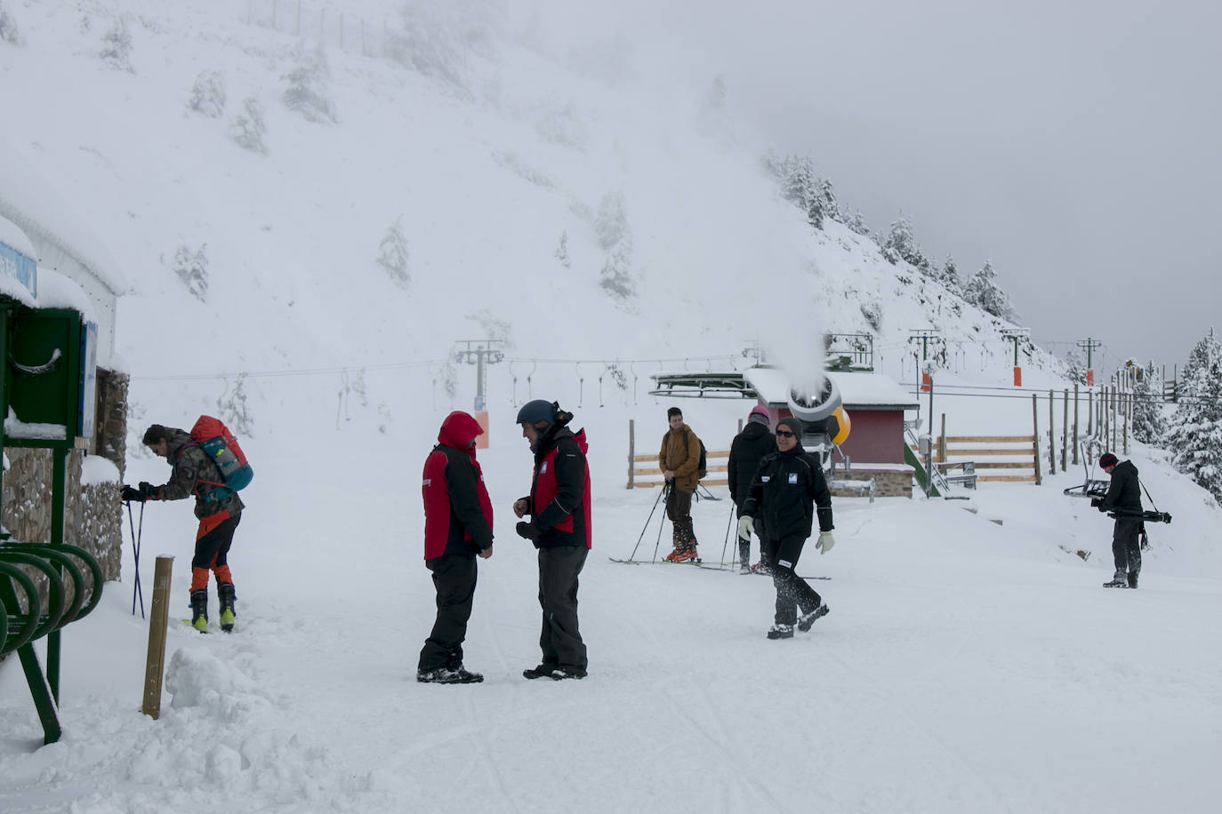
[[[903,209],[935,262],[991,260],[1058,354],[1094,337],[1097,370],[1169,371],[1222,328],[1222,4],[535,5],[573,48],[618,31],[638,81],[722,74],[727,105],[873,229]]]

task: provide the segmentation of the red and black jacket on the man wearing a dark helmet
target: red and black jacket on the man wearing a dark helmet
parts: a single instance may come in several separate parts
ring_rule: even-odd
[[[556,427],[540,439],[527,498],[530,522],[539,527],[535,548],[594,547],[588,448],[585,430],[574,436],[568,427]]]

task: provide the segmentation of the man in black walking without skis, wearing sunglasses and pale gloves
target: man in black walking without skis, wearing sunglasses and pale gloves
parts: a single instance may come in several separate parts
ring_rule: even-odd
[[[808,631],[829,610],[794,567],[816,515],[820,533],[815,548],[826,554],[836,543],[832,539],[832,494],[819,459],[802,448],[800,420],[787,416],[776,422],[776,448],[777,452],[764,456],[755,471],[743,516],[738,520],[738,533],[750,535],[754,516],[763,516],[760,548],[772,564],[772,585],[776,586],[776,618],[767,637],[792,638],[794,624],[798,630]]]

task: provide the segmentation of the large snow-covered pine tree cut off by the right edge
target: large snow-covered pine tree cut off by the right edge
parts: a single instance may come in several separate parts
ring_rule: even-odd
[[[1179,393],[1167,422],[1172,465],[1222,500],[1222,345],[1213,328],[1189,354]]]

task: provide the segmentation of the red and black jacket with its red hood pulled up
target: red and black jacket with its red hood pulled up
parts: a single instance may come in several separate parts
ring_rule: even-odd
[[[492,544],[492,502],[470,442],[480,434],[470,415],[455,410],[441,422],[424,461],[424,559],[474,554]]]

